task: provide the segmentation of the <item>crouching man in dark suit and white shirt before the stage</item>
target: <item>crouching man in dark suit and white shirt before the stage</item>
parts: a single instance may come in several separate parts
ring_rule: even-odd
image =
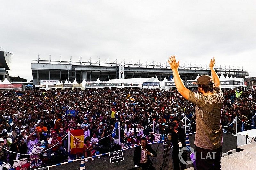
[[[157,154],[150,145],[147,145],[147,138],[142,137],[140,139],[140,146],[136,147],[133,155],[133,163],[135,167],[143,166],[143,170],[153,169],[149,156],[156,157]]]

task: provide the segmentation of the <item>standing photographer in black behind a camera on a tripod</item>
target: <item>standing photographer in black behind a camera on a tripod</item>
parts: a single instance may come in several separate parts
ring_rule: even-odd
[[[179,119],[173,118],[172,123],[170,123],[169,128],[167,130],[168,133],[172,134],[172,159],[173,159],[173,167],[174,170],[179,170],[180,166],[181,169],[186,169],[186,165],[182,164],[179,159],[179,151],[181,147],[185,147],[185,140],[186,140],[186,135],[185,135],[185,130],[182,127],[179,127]],[[166,133],[166,134],[168,134]],[[182,159],[187,160],[187,154],[186,152],[182,153]],[[180,166],[179,166],[180,164]]]

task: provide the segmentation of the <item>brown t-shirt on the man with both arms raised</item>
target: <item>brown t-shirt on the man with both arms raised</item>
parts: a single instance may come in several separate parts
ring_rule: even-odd
[[[217,149],[222,146],[221,112],[224,97],[220,87],[215,95],[204,96],[189,92],[188,100],[196,104],[196,135],[194,144],[204,149]]]

